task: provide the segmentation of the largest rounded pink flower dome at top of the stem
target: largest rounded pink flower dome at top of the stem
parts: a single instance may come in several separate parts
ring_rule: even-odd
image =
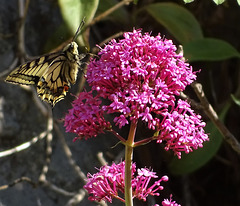
[[[196,79],[195,73],[176,53],[172,41],[133,30],[124,39],[113,39],[92,60],[87,81],[100,97],[110,100],[103,109],[117,113],[120,127],[141,119],[155,129],[154,113],[164,113],[175,95]]]

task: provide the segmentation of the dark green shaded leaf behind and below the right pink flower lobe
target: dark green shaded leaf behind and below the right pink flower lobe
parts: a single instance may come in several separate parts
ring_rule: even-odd
[[[226,104],[221,112],[220,119],[223,120],[230,108],[230,103]],[[184,175],[194,172],[210,159],[212,159],[219,150],[223,137],[216,126],[209,122],[205,128],[209,135],[209,141],[203,143],[203,148],[199,148],[189,154],[182,154],[182,158],[178,159],[176,156],[169,164],[169,170],[175,175]]]

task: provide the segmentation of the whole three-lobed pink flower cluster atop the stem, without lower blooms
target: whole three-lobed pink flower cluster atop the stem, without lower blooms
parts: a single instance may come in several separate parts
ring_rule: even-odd
[[[158,131],[157,142],[166,143],[165,149],[179,158],[182,151],[188,153],[208,140],[201,116],[186,101],[176,100],[196,74],[172,41],[141,30],[127,32],[90,61],[86,79],[92,90],[80,94],[65,119],[67,131],[79,138],[109,129],[103,115],[114,114],[120,128],[131,121],[146,122]]]

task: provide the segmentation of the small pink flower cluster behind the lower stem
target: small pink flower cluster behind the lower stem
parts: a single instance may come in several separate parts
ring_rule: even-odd
[[[91,201],[108,201],[112,202],[113,198],[124,200],[120,197],[124,194],[124,169],[125,162],[119,164],[113,163],[111,166],[103,166],[99,172],[91,175],[88,174],[87,184],[84,188],[91,195]],[[147,168],[138,169],[136,172],[136,165],[132,165],[132,191],[133,198],[146,201],[148,195],[158,196],[159,190],[163,190],[161,182],[168,181],[167,176],[155,181],[150,185],[152,179],[158,178],[155,172]]]

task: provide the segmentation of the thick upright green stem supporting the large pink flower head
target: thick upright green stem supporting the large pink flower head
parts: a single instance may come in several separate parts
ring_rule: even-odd
[[[132,199],[132,157],[137,122],[131,122],[128,139],[125,143],[125,205],[133,206]]]

